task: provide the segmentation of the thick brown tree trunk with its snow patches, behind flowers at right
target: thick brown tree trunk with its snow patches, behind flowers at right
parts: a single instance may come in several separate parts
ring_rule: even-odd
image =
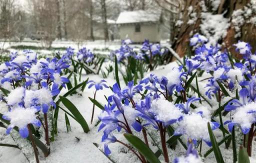
[[[197,32],[208,37],[210,43],[220,43],[232,53],[235,53],[232,44],[238,40],[255,45],[256,0],[186,0],[175,25],[172,43],[180,56],[189,48],[189,37]],[[235,56],[239,57],[237,53]]]

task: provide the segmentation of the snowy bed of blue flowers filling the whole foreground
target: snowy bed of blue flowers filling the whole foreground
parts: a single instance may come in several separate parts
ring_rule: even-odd
[[[32,51],[13,53],[0,65],[0,144],[14,147],[0,147],[0,162],[35,162],[30,141],[22,138],[30,133],[40,162],[256,161],[255,55],[239,42],[245,62],[234,64],[206,42],[194,35],[195,55],[170,63],[166,48],[146,41],[134,47],[125,40],[121,48],[109,46],[115,50],[111,54],[97,44],[67,48],[53,59],[37,59]],[[252,144],[249,158],[238,154],[243,143]],[[50,149],[47,157],[42,146]]]

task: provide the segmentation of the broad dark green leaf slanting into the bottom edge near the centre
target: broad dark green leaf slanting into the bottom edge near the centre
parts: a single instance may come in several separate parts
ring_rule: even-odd
[[[149,162],[160,163],[153,151],[137,136],[130,133],[124,133],[123,135]]]

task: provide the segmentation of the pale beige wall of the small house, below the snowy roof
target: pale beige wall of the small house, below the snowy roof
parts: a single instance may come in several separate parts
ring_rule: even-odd
[[[158,23],[139,23],[140,31],[135,31],[135,23],[120,24],[120,39],[130,38],[133,42],[143,42],[149,39],[150,42],[160,41],[160,28]]]

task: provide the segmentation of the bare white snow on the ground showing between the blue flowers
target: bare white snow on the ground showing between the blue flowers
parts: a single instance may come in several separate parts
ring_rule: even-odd
[[[23,44],[24,42],[22,42]],[[32,43],[29,42],[27,45],[31,45]],[[71,42],[61,42],[57,43],[54,42],[53,46],[55,47],[62,47],[64,46],[72,46],[75,43]],[[39,45],[38,43],[33,43],[33,45]],[[85,44],[88,48],[105,48],[108,47],[109,49],[115,49],[116,47],[119,47],[119,44],[109,44],[104,45],[100,42],[94,42],[94,43],[87,43]],[[42,51],[43,53],[43,51]],[[176,62],[169,63],[167,65],[158,66],[155,70],[151,72],[146,72],[145,76],[149,75],[150,73],[154,73],[155,75],[162,76],[166,75],[171,67],[174,65],[177,65]],[[113,73],[113,72],[112,72]],[[107,85],[112,86],[115,83],[115,79],[113,74],[110,74],[108,78],[105,78],[107,81]],[[100,75],[83,75],[82,80],[85,80],[86,78],[89,78],[90,80],[100,80],[102,79],[102,76]],[[204,79],[205,76],[202,76],[198,78],[198,80]],[[120,78],[121,79],[121,78]],[[206,82],[207,80],[205,80]],[[124,81],[120,80],[120,84],[123,87]],[[193,84],[193,83],[192,83]],[[200,86],[202,89],[203,86]],[[205,89],[206,90],[206,89]],[[205,90],[201,90],[202,92],[205,92]],[[64,94],[67,91],[67,89],[62,89],[61,94]],[[112,91],[109,88],[104,88],[103,90],[99,90],[100,92],[97,93],[96,99],[104,104],[106,103],[106,100],[104,98],[104,95],[108,96],[111,95]],[[98,126],[95,126],[97,122],[97,116],[101,113],[101,110],[97,107],[95,107],[95,113],[94,113],[94,120],[93,123],[90,124],[89,120],[91,117],[92,112],[92,102],[89,100],[88,97],[93,97],[93,89],[88,89],[87,87],[83,92],[81,92],[81,95],[79,93],[74,94],[72,96],[68,96],[67,98],[77,107],[77,109],[80,111],[82,116],[86,119],[88,122],[90,131],[88,133],[84,133],[81,126],[72,118],[69,118],[70,126],[71,126],[71,132],[66,131],[66,125],[65,125],[65,117],[64,112],[62,110],[59,110],[58,115],[58,134],[55,136],[55,140],[51,142],[50,144],[50,154],[48,157],[44,158],[43,155],[40,155],[40,162],[56,162],[56,163],[62,163],[62,162],[68,162],[68,163],[76,163],[76,162],[109,162],[109,160],[106,158],[106,156],[93,145],[93,142],[96,142],[100,144],[102,132],[98,132]],[[62,107],[64,107],[61,104]],[[212,108],[216,109],[216,108]],[[116,137],[124,142],[127,142],[125,138],[123,137],[124,132],[116,132]],[[214,131],[215,136],[219,140],[219,138],[222,136],[222,133],[220,130]],[[186,141],[185,137],[183,137],[184,141]],[[9,143],[14,144],[14,141],[12,140],[10,135],[5,134],[5,129],[0,128],[0,143]],[[152,150],[156,151],[157,148],[155,145],[153,145],[152,141],[149,140],[149,145],[152,148]],[[252,157],[251,162],[256,162],[256,143],[253,141],[252,145]],[[121,146],[118,143],[111,143],[109,144],[109,148],[111,148],[111,155],[110,157],[115,160],[116,162],[139,162],[139,160],[126,148]],[[238,148],[238,146],[237,146]],[[202,153],[205,153],[209,147],[203,143],[202,145]],[[224,148],[224,144],[220,145],[220,150],[222,151],[222,155],[224,157],[225,162],[232,162],[232,150],[231,147],[229,149]],[[177,144],[176,149],[172,150],[168,148],[169,158],[170,160],[173,160],[174,157],[180,156],[185,154],[185,149],[181,146],[180,143]],[[163,162],[163,157],[159,157],[160,160]],[[205,162],[216,162],[213,152],[209,154],[206,158],[203,158]],[[0,147],[0,162],[3,163],[11,163],[11,162],[20,162],[20,163],[27,163],[28,160],[26,157],[22,154],[22,152],[19,149],[16,148],[10,148],[10,147]]]

